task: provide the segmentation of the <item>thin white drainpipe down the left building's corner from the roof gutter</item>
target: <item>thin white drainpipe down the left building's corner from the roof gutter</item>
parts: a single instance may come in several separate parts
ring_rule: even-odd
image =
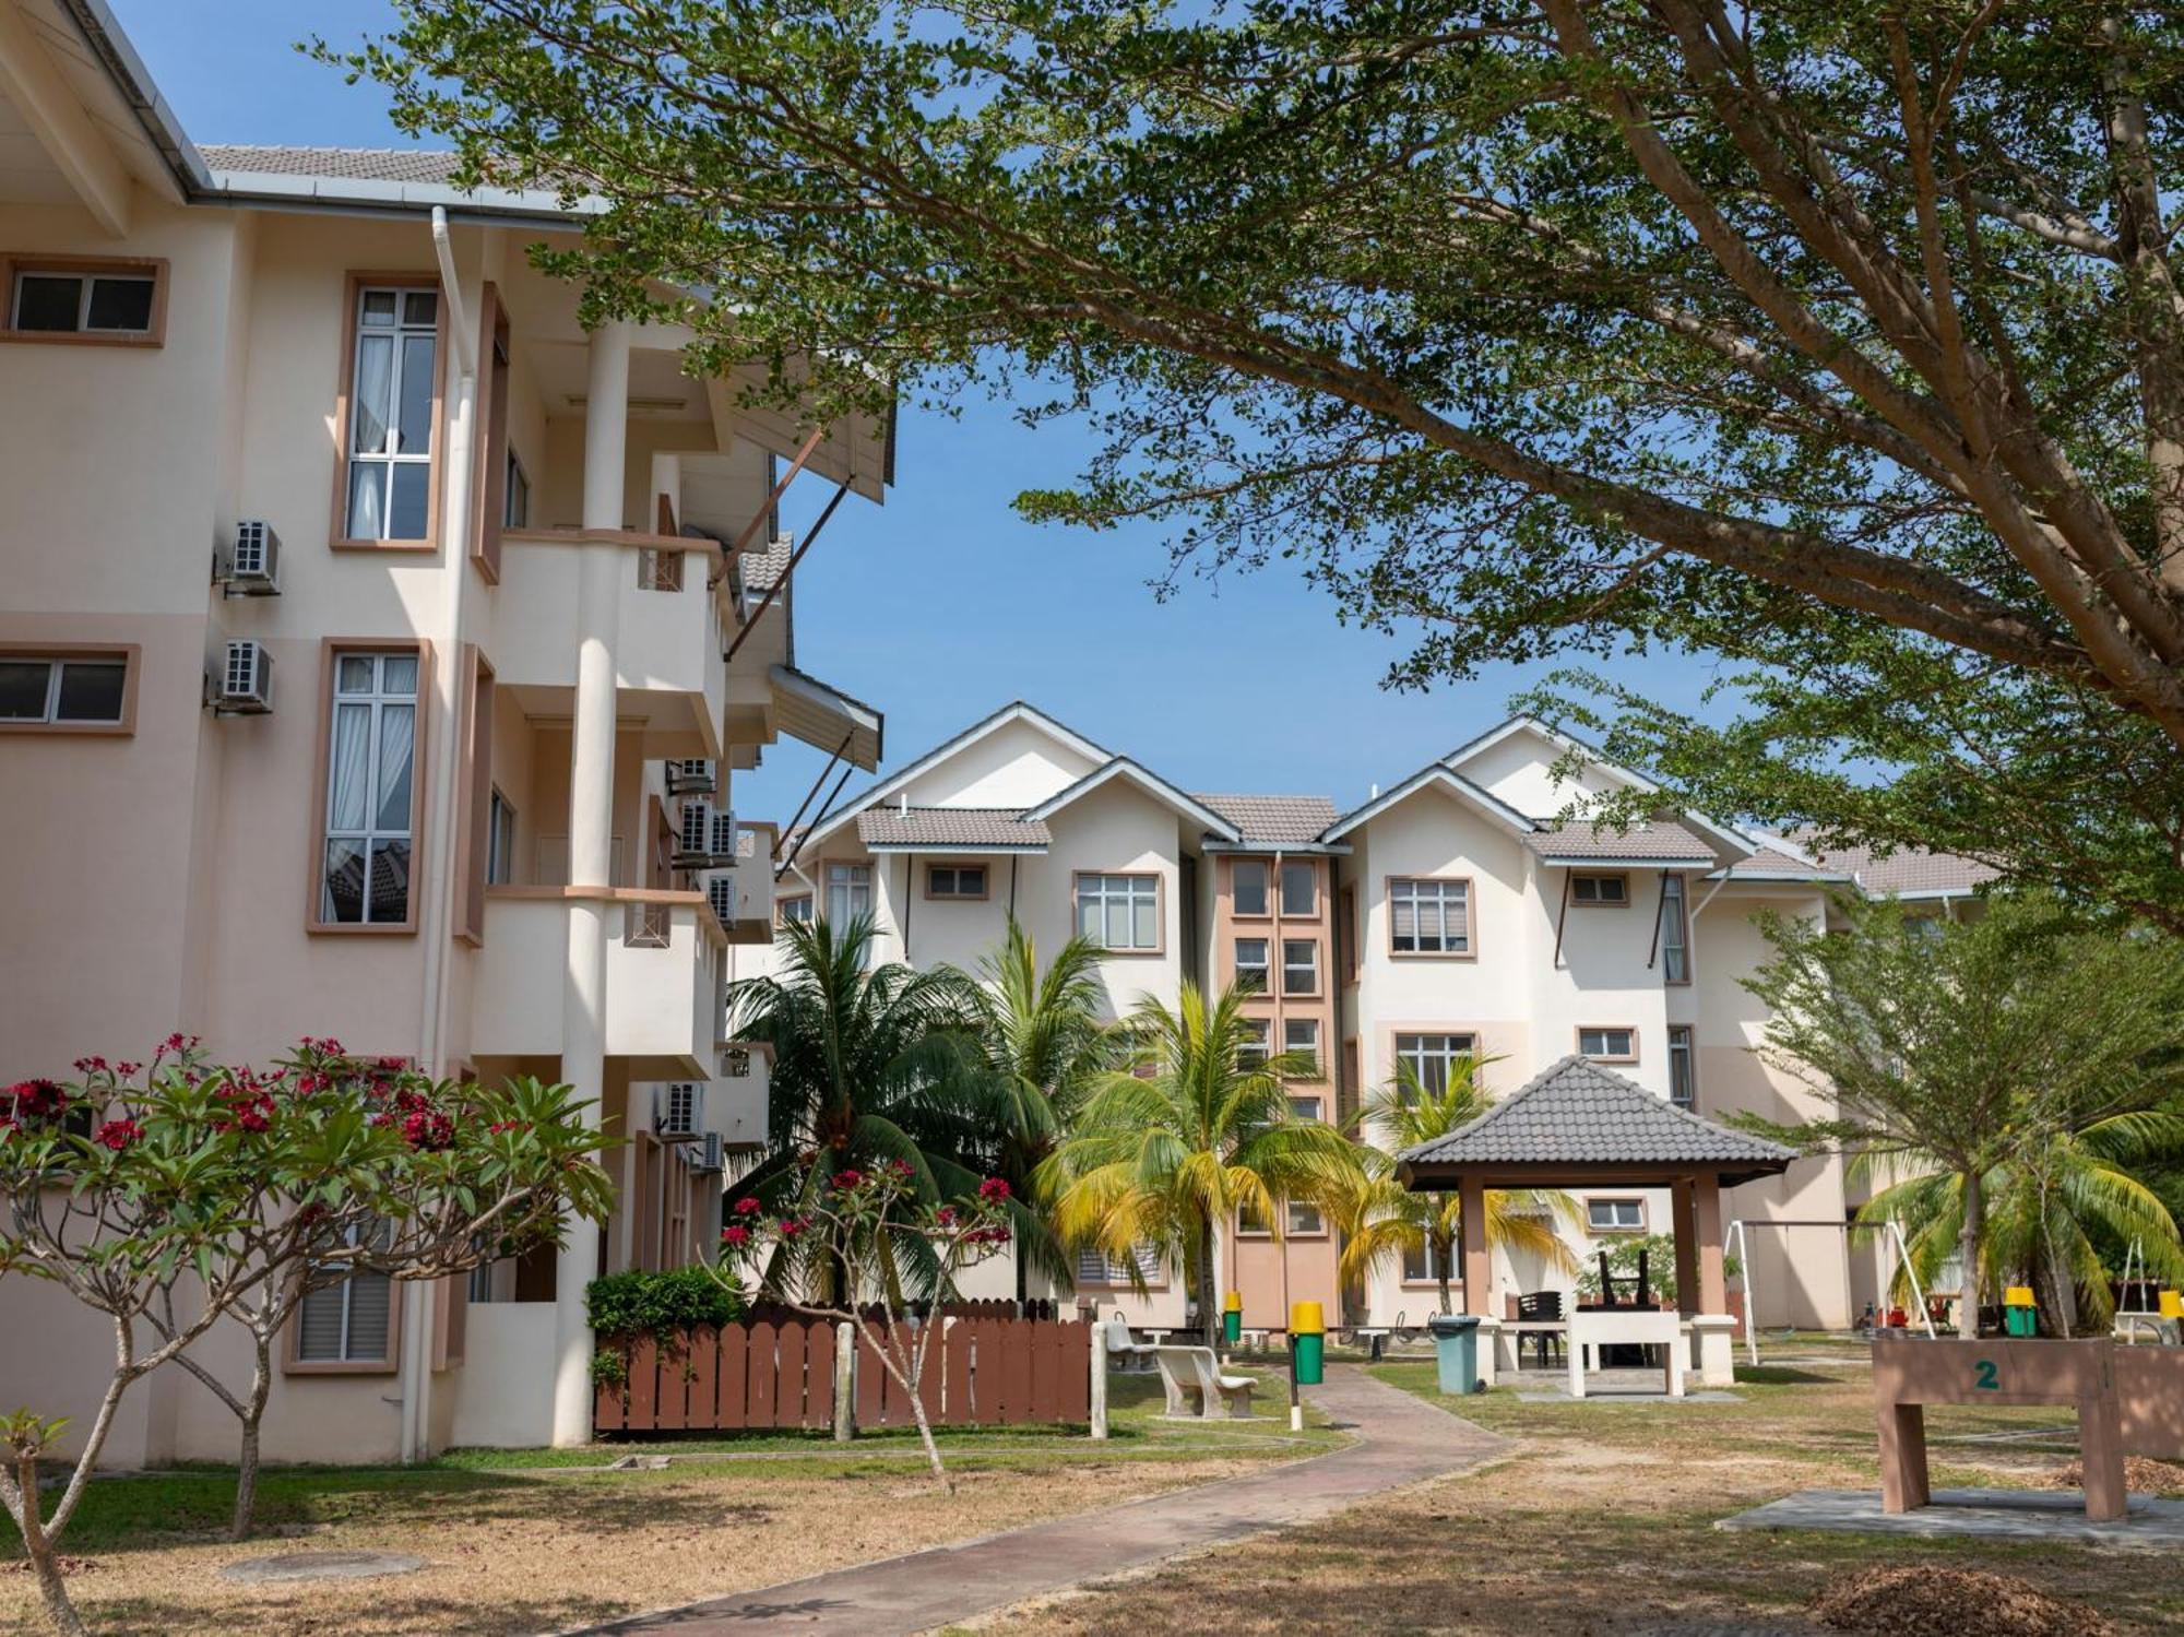
[[[448,941],[452,936],[454,899],[461,891],[456,882],[454,847],[454,777],[461,766],[456,722],[463,712],[463,683],[459,670],[463,655],[463,585],[470,559],[470,441],[478,404],[478,345],[470,332],[470,314],[463,310],[463,286],[454,273],[454,247],[448,240],[448,212],[432,207],[432,253],[439,258],[441,299],[448,303],[448,334],[454,336],[456,380],[448,408],[448,463],[441,485],[441,528],[448,585],[448,620],[443,629],[441,664],[432,668],[441,698],[446,731],[437,736],[432,757],[432,827],[428,845],[432,858],[424,880],[432,891],[424,901],[424,995],[419,1006],[417,1067],[432,1078],[446,1074],[446,1024],[448,1024]],[[430,1445],[430,1393],[432,1393],[432,1283],[408,1279],[402,1283],[402,1460],[419,1460]]]

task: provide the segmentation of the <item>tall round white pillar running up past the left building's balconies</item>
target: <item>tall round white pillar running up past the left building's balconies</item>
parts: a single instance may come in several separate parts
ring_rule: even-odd
[[[629,325],[592,332],[583,421],[583,526],[622,526],[622,456],[629,437]],[[614,862],[614,640],[620,550],[583,552],[577,576],[577,720],[568,768],[568,884],[603,888]],[[561,1078],[598,1102],[607,1089],[607,939],[614,904],[568,904],[568,982],[561,995]],[[570,1220],[555,1268],[553,1441],[592,1438],[592,1329],[583,1290],[598,1275],[598,1229]]]

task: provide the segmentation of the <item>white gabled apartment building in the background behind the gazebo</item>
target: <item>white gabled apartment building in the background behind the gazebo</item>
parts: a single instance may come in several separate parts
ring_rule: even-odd
[[[1247,982],[1265,1048],[1321,1065],[1293,1087],[1306,1118],[1352,1120],[1367,1089],[1404,1070],[1439,1089],[1459,1061],[1485,1059],[1487,1089],[1511,1091],[1566,1056],[1699,1115],[1819,1113],[1808,1087],[1752,1050],[1767,1026],[1741,984],[1767,954],[1754,917],[1821,921],[1830,893],[1898,886],[1946,910],[1983,871],[1939,856],[1828,860],[1666,808],[1629,829],[1566,816],[1616,788],[1651,790],[1511,718],[1339,814],[1324,797],[1190,792],[1011,703],[793,838],[778,912],[869,915],[874,958],[917,967],[976,969],[1009,917],[1048,954],[1081,932],[1103,945],[1114,1017],[1140,995],[1173,1004],[1186,978]],[[736,952],[740,973],[773,960],[764,947]],[[1837,1159],[1800,1159],[1728,1192],[1767,1323],[1845,1327],[1874,1299],[1878,1264],[1841,1231],[1854,1203]],[[1599,1190],[1575,1205],[1575,1255],[1671,1231],[1664,1190]],[[1291,1203],[1282,1235],[1227,1224],[1223,1288],[1260,1325],[1299,1299],[1382,1325],[1435,1310],[1431,1255],[1345,1283],[1339,1253],[1334,1227]],[[1088,1253],[1072,1292],[1138,1325],[1186,1323],[1179,1272],[1153,1251],[1138,1264],[1133,1281]],[[1570,1286],[1505,1251],[1492,1277],[1494,1312]],[[972,1294],[1011,1294],[1016,1270],[1000,1259],[972,1281]]]

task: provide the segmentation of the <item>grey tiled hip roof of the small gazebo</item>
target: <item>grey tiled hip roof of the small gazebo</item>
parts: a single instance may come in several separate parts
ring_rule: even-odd
[[[1581,1056],[1542,1070],[1446,1137],[1406,1148],[1406,1166],[1723,1166],[1778,1172],[1795,1152],[1684,1113]]]

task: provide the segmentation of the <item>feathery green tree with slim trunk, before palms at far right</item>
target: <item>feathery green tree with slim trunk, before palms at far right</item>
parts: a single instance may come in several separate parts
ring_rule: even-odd
[[[1778,1135],[1885,1183],[1870,1216],[1909,1218],[1928,1275],[1955,1248],[1961,1331],[2014,1268],[2105,1305],[2090,1227],[2149,1235],[2173,1268],[2175,1222],[2129,1163],[2175,1135],[2158,1111],[2184,1089],[2184,949],[2049,899],[1996,897],[1970,921],[1843,899],[1839,917],[1760,921],[1773,958],[1745,987],[1771,1011],[1762,1056],[1830,1109]]]

